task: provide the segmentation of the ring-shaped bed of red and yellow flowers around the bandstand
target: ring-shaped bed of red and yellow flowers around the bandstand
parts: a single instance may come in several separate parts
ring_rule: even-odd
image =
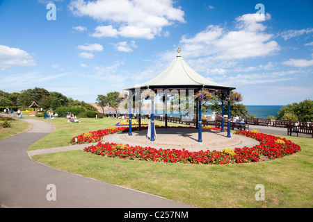
[[[145,127],[144,127],[145,128]],[[177,128],[177,127],[175,127]],[[194,128],[188,126],[186,128]],[[136,130],[137,128],[132,128]],[[212,130],[220,130],[220,128],[211,128]],[[106,130],[97,130],[89,132],[88,134],[79,135],[71,140],[71,144],[83,144],[88,142],[99,142],[104,135],[112,133],[126,132],[127,127],[124,128],[109,128]],[[157,149],[152,147],[129,146],[128,144],[115,143],[101,143],[95,146],[88,146],[84,151],[102,155],[104,157],[117,157],[128,160],[145,160],[153,162],[179,162],[184,164],[230,164],[230,163],[246,163],[259,162],[267,158],[270,160],[291,155],[300,151],[300,146],[293,142],[267,135],[264,133],[253,133],[250,131],[236,131],[237,135],[244,135],[257,139],[260,144],[252,148],[234,148],[224,149],[223,151],[198,151],[191,152],[177,149]]]

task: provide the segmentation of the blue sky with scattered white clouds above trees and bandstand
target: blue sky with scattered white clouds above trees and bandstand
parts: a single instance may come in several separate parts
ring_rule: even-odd
[[[312,10],[311,0],[0,0],[0,89],[94,103],[161,74],[179,46],[245,105],[298,103],[313,99]]]

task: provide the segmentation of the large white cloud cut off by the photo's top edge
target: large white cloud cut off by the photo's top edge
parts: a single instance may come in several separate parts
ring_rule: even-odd
[[[138,37],[152,39],[164,26],[185,22],[184,11],[173,7],[172,0],[73,0],[69,5],[76,16],[89,16],[116,27],[98,26],[94,37]]]

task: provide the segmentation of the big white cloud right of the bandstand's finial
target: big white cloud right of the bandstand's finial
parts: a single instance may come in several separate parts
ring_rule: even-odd
[[[203,57],[211,60],[236,60],[271,55],[280,50],[280,47],[271,40],[273,35],[265,33],[266,26],[261,23],[267,19],[271,19],[271,15],[263,15],[261,19],[255,14],[242,15],[235,19],[235,31],[209,25],[194,37],[182,37],[182,53],[187,58],[201,57],[203,61]]]

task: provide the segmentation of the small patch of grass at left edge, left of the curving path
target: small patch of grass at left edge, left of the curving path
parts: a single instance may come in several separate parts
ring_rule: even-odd
[[[4,121],[0,121],[0,123],[3,123]],[[0,139],[5,139],[8,137],[13,137],[15,135],[18,135],[20,133],[24,133],[28,130],[30,130],[33,125],[31,123],[28,123],[26,121],[9,121],[11,123],[10,128],[0,128]]]

